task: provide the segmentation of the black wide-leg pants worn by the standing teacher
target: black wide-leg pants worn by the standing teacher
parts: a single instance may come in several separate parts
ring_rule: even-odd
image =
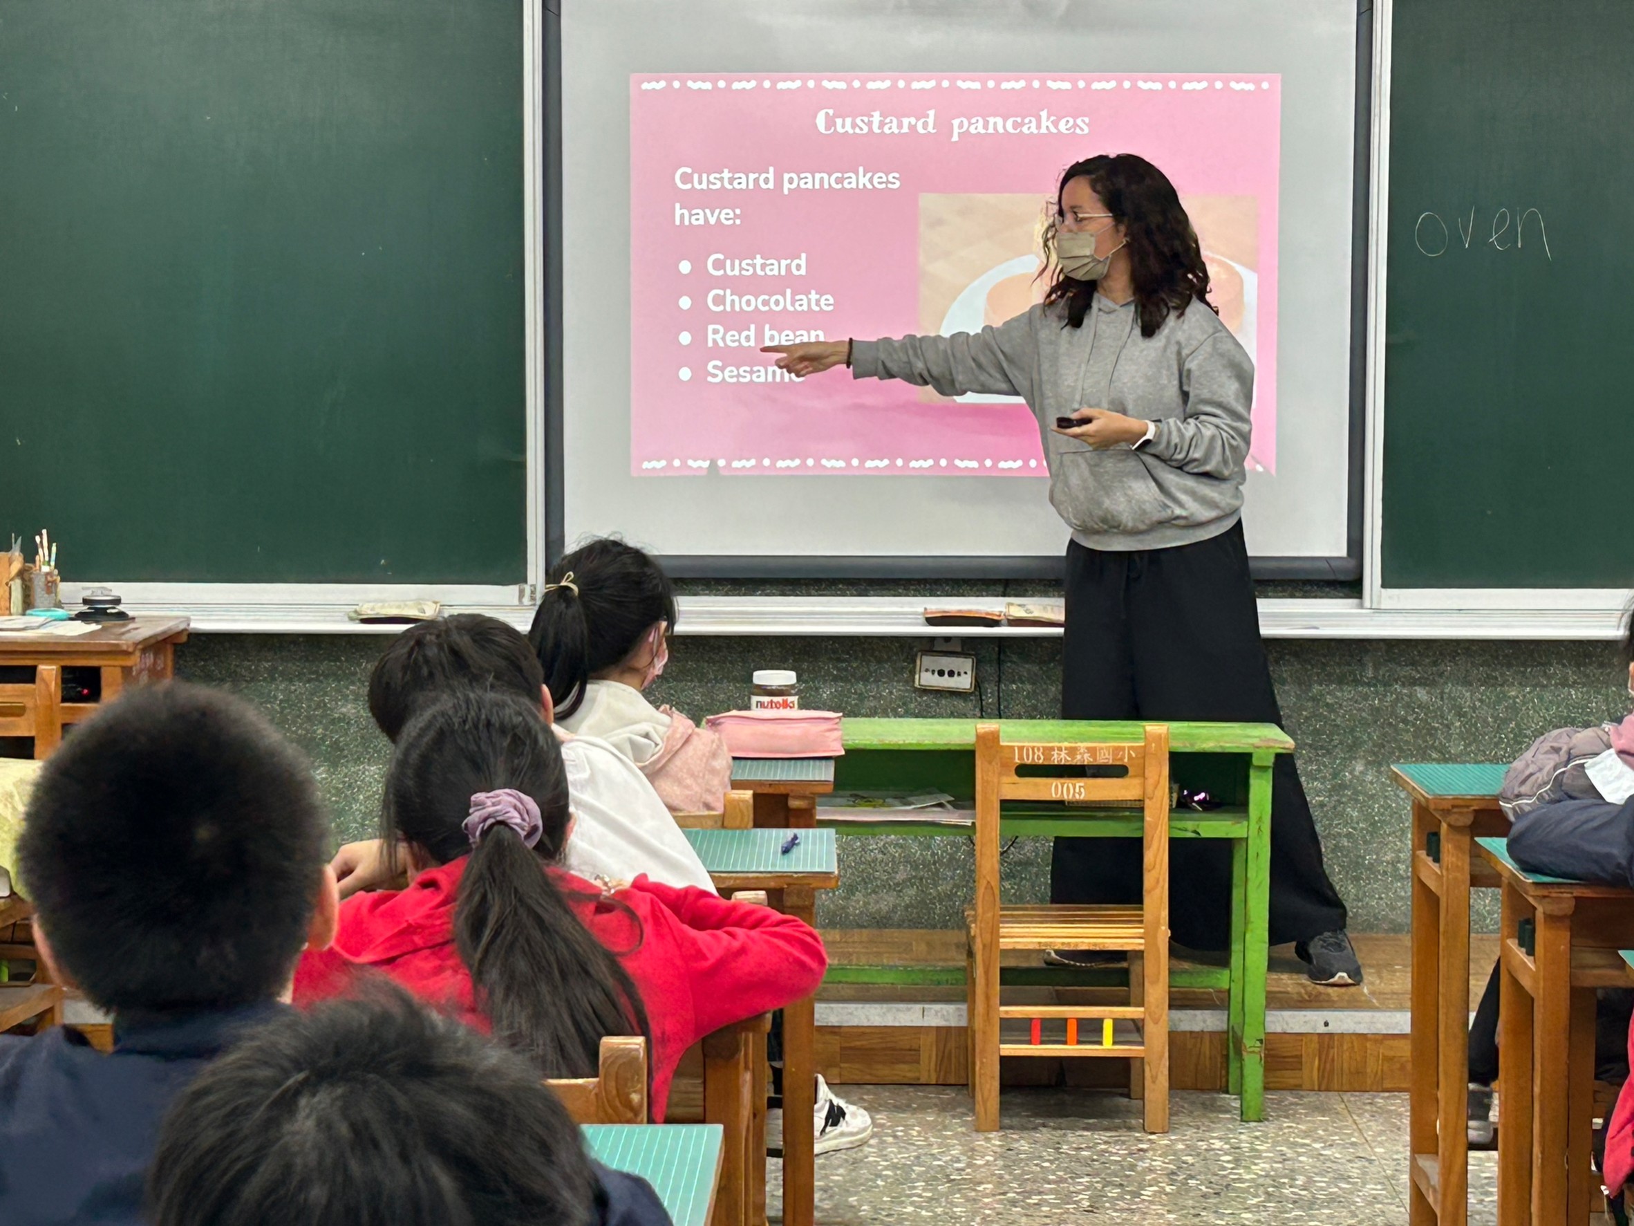
[[[1242,523],[1172,549],[1067,546],[1064,719],[1281,724]],[[1183,768],[1175,781],[1186,785]],[[1054,902],[1139,902],[1136,839],[1057,839]],[[1230,843],[1170,843],[1170,930],[1194,950],[1230,943]],[[1271,775],[1271,943],[1345,927],[1292,755]]]

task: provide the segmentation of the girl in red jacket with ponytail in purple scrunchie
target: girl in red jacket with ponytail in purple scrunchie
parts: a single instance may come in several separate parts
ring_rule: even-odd
[[[595,1076],[603,1035],[645,1035],[662,1120],[681,1053],[815,991],[822,940],[691,886],[595,886],[556,866],[570,826],[560,745],[525,700],[462,690],[417,713],[381,811],[413,879],[342,904],[333,946],[301,963],[296,1002],[374,968],[544,1077]]]

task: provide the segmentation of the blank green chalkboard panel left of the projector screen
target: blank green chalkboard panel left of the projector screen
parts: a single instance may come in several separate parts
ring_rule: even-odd
[[[521,0],[0,0],[0,530],[525,575]]]

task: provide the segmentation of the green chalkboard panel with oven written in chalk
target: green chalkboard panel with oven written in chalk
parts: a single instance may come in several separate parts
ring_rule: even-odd
[[[1634,3],[1392,20],[1382,582],[1627,587]]]

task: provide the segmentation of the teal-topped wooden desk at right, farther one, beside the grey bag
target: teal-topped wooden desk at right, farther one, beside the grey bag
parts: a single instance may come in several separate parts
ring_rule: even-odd
[[[1464,1226],[1469,1215],[1469,891],[1498,884],[1472,840],[1507,835],[1507,767],[1391,767],[1413,801],[1410,1219]]]

